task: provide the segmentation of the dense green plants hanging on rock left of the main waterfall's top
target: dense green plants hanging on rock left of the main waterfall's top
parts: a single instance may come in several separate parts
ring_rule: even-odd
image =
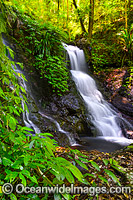
[[[47,79],[53,92],[61,95],[68,90],[68,70],[63,61],[61,32],[50,24],[35,23],[26,15],[18,13],[18,17],[24,23],[17,33],[18,44],[25,49],[27,57],[30,57],[40,73],[40,78]]]

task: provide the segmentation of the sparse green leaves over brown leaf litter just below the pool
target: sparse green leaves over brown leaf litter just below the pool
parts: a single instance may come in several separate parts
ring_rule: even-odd
[[[109,169],[113,168],[123,174],[125,173],[125,170],[114,159],[112,159],[112,158],[103,159],[104,166],[101,167],[95,161],[89,160],[88,156],[82,154],[79,150],[70,149],[70,152],[71,152],[72,156],[71,157],[68,156],[68,157],[72,160],[72,162],[75,161],[75,163],[77,163],[83,169],[86,169],[88,171],[84,174],[84,184],[95,187],[96,180],[99,180],[100,182],[102,181],[103,184],[106,184],[106,186],[108,186],[107,176],[109,176],[112,178],[112,180],[114,182],[116,182],[118,185],[121,185],[118,178]],[[89,168],[91,167],[90,164],[92,165],[92,167],[94,169],[93,174],[89,173]],[[106,172],[106,174],[105,174],[105,172]],[[87,177],[87,180],[85,180],[86,177]]]

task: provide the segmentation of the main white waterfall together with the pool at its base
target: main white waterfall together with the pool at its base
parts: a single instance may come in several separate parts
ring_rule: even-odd
[[[87,73],[87,64],[83,50],[78,47],[63,44],[71,66],[72,79],[86,105],[88,116],[96,128],[96,137],[82,137],[84,149],[99,151],[114,151],[129,145],[133,140],[127,139],[125,128],[133,130],[133,126],[119,116],[97,89],[94,79]],[[121,128],[125,124],[124,130]],[[81,147],[80,147],[81,148]]]

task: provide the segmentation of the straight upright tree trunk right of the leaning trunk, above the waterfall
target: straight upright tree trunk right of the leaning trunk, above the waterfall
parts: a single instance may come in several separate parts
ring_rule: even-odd
[[[88,35],[90,40],[92,38],[93,23],[94,23],[94,0],[90,0],[89,27],[88,27]]]

